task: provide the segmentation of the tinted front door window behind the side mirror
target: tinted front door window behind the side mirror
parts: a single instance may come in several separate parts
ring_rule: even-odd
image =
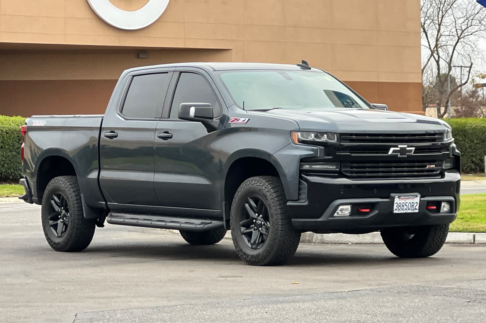
[[[195,73],[182,73],[177,82],[172,100],[171,119],[177,119],[181,103],[211,103],[214,116],[219,116],[221,107],[211,86],[206,79]]]

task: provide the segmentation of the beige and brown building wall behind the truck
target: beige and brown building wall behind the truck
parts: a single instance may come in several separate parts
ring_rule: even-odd
[[[419,26],[419,0],[170,0],[137,31],[106,24],[87,0],[0,0],[0,114],[103,113],[134,66],[301,59],[372,103],[421,112]]]

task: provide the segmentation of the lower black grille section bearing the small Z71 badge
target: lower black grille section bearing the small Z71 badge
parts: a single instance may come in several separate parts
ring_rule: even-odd
[[[343,162],[342,172],[349,178],[435,178],[442,169],[441,161]]]

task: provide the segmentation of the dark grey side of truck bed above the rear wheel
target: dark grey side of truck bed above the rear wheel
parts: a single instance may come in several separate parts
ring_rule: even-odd
[[[62,167],[66,159],[76,170],[87,204],[99,207],[103,203],[98,185],[99,136],[103,117],[103,114],[33,115],[26,119],[26,154],[22,173],[35,192],[34,196],[42,196],[47,185],[42,182],[42,173],[47,172],[43,163],[47,165],[54,161]],[[56,170],[49,168],[48,171]]]

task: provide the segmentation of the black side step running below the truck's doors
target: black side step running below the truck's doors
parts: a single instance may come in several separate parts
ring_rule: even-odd
[[[159,229],[175,229],[186,231],[207,231],[215,227],[224,226],[221,220],[190,219],[176,216],[157,216],[144,214],[113,213],[106,217],[109,224],[122,226],[145,226]]]

